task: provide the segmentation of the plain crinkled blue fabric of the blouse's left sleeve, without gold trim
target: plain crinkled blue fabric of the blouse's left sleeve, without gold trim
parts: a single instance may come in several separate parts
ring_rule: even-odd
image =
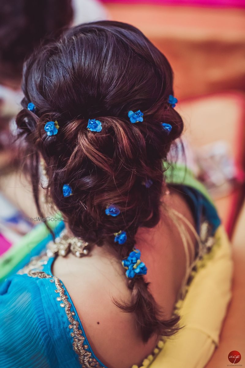
[[[42,282],[16,275],[1,287],[0,367],[59,367],[51,339],[51,336],[57,336],[57,328],[50,335],[51,321],[48,321],[49,316],[58,311],[50,301],[48,311],[44,310],[49,296],[39,281]],[[62,331],[64,322],[61,323],[60,317],[57,316],[57,323]],[[67,355],[64,354],[64,360]],[[69,358],[71,362],[74,360],[72,352]]]

